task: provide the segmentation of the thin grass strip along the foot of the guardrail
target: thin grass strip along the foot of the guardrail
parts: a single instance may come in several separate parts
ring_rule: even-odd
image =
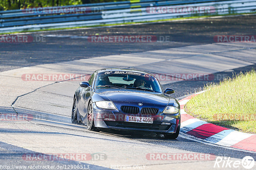
[[[22,32],[38,32],[38,31],[52,31],[52,30],[66,30],[66,29],[74,29],[74,28],[88,28],[88,27],[97,27],[97,26],[113,26],[113,25],[125,25],[125,24],[135,24],[135,23],[150,23],[150,22],[157,22],[157,21],[171,21],[171,20],[178,20],[178,19],[190,19],[190,18],[207,18],[207,17],[216,17],[216,16],[232,16],[232,15],[244,15],[244,14],[254,14],[252,13],[240,13],[240,14],[224,14],[224,15],[205,15],[205,16],[193,16],[193,17],[181,17],[181,18],[170,18],[170,19],[160,19],[154,21],[142,21],[142,22],[127,22],[127,23],[120,23],[120,24],[104,24],[104,25],[92,25],[92,26],[77,26],[77,27],[68,27],[68,28],[49,28],[49,29],[38,29],[38,30],[31,30],[31,31],[18,31],[18,32],[5,32],[0,33],[0,35],[4,34],[15,34],[15,33],[22,33]]]

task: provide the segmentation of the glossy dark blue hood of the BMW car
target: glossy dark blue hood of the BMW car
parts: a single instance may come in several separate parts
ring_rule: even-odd
[[[164,94],[134,90],[134,89],[96,89],[97,93],[102,98],[107,97],[113,103],[123,103],[124,105],[155,105],[167,106],[170,97]],[[175,99],[174,99],[175,100]]]

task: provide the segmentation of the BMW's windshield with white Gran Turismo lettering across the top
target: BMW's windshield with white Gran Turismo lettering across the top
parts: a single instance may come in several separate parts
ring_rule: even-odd
[[[148,74],[128,71],[107,71],[97,74],[96,88],[126,88],[162,93],[157,79]]]

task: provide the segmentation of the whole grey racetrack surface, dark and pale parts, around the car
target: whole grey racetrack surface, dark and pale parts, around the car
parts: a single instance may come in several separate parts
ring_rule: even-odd
[[[149,153],[211,153],[230,157],[232,161],[241,161],[245,156],[256,160],[256,153],[196,142],[182,134],[170,140],[155,134],[88,131],[84,125],[71,124],[70,120],[74,91],[80,81],[21,78],[27,74],[91,74],[106,67],[139,69],[158,76],[163,88],[173,88],[172,96],[180,98],[203,88],[206,83],[219,82],[256,67],[255,43],[213,41],[215,35],[254,35],[255,19],[256,16],[243,16],[33,33],[33,36],[45,36],[46,42],[1,43],[1,117],[14,115],[17,119],[1,119],[0,169],[1,165],[79,165],[90,169],[124,169],[122,165],[131,165],[132,169],[213,169],[215,165],[215,159],[148,160]],[[170,35],[172,41],[90,43],[84,38],[95,34]],[[204,76],[192,81],[186,80],[188,74]],[[210,78],[205,77],[208,74]],[[30,117],[22,118],[22,115]],[[24,155],[36,153],[88,153],[94,155],[94,159],[40,161],[24,158]],[[97,155],[105,157],[96,159]],[[214,169],[234,169],[225,167],[226,164],[223,168],[222,163]]]

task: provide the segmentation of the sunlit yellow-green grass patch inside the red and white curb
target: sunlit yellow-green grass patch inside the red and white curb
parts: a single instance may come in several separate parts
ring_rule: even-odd
[[[256,133],[256,72],[252,70],[204,87],[186,105],[188,114],[204,121]]]

